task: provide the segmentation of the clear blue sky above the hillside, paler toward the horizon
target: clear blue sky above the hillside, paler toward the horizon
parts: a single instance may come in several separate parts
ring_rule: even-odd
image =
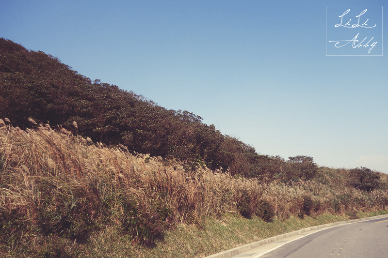
[[[384,2],[0,0],[0,37],[92,80],[193,112],[258,153],[388,173],[386,15],[370,8],[360,16],[377,24],[373,31],[333,29],[346,7],[326,21],[326,6],[384,9]],[[357,12],[351,7],[342,24],[356,24]],[[360,43],[366,31],[369,45],[377,41],[370,54],[354,42],[328,42],[359,33]],[[327,46],[371,56],[326,56]]]

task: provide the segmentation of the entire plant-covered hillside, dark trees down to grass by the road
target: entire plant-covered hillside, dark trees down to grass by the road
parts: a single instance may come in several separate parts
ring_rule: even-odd
[[[386,174],[260,155],[193,113],[9,40],[0,58],[1,256],[200,257],[229,245],[183,235],[214,242],[240,221],[257,241],[387,209]]]

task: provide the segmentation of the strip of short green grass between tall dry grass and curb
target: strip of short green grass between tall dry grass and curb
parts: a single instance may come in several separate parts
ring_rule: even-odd
[[[357,212],[359,218],[388,214]],[[290,217],[265,222],[257,216],[251,219],[225,214],[219,219],[206,218],[202,226],[182,224],[165,232],[153,246],[142,247],[133,238],[123,235],[117,227],[94,231],[87,243],[71,242],[55,236],[37,236],[25,249],[2,248],[1,257],[144,257],[144,258],[196,258],[206,257],[244,244],[269,237],[333,222],[349,220],[348,215],[323,214],[315,217]]]

